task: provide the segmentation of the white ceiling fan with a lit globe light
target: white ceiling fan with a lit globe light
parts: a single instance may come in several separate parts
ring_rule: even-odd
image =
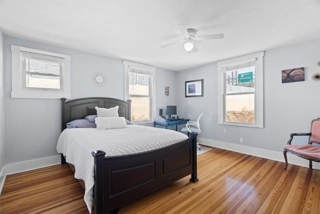
[[[186,51],[188,51],[189,53],[191,52],[191,50],[192,50],[192,52],[197,52],[197,51],[199,51],[199,49],[194,44],[194,41],[222,39],[224,37],[223,34],[212,34],[212,35],[196,37],[195,36],[195,34],[196,34],[195,29],[192,29],[192,28],[186,29],[186,27],[181,24],[178,24],[178,27],[179,27],[184,39],[181,41],[167,44],[167,45],[162,45],[162,46],[160,46],[160,48],[165,48],[165,47],[168,47],[168,46],[171,46],[174,44],[178,44],[178,43],[184,43],[184,49]]]

